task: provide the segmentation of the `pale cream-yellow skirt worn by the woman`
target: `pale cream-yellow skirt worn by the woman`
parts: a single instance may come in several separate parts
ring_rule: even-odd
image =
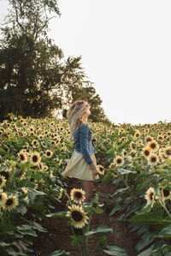
[[[91,154],[93,164],[97,165],[96,157]],[[82,153],[75,152],[69,159],[66,169],[62,172],[62,176],[68,176],[69,178],[77,178],[84,181],[94,181],[99,179],[99,176],[94,176],[89,164],[85,162],[85,158]]]

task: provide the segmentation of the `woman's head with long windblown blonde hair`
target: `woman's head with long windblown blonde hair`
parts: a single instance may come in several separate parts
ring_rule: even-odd
[[[80,122],[85,123],[87,117],[90,115],[90,104],[85,100],[76,100],[67,111],[68,124],[71,134],[74,134],[79,126]]]

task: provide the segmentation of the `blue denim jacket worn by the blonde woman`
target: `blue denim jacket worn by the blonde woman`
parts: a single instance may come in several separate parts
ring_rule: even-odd
[[[92,132],[87,124],[81,123],[80,128],[74,131],[74,151],[81,152],[87,164],[92,164],[91,154],[96,153],[92,145]]]

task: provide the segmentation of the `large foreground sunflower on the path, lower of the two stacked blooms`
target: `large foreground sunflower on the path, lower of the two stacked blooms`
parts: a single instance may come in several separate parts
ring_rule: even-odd
[[[72,225],[76,229],[82,229],[85,224],[87,224],[88,217],[86,216],[87,212],[85,212],[82,206],[72,205],[68,206],[69,210],[67,213],[67,217],[71,217]]]

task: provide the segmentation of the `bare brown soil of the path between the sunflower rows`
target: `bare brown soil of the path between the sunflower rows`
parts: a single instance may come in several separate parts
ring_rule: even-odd
[[[80,188],[80,184],[73,180],[70,184],[70,188]],[[102,194],[112,194],[115,191],[114,185],[110,183],[102,184],[101,182],[95,183],[96,193],[99,195],[99,203],[104,204],[104,211],[101,214],[94,214],[91,219],[91,228],[96,229],[100,225],[107,225],[109,228],[113,229],[113,233],[107,234],[106,245],[115,245],[117,247],[122,247],[127,251],[127,256],[136,256],[138,253],[135,249],[137,238],[128,229],[127,222],[117,221],[118,215],[109,217],[109,206],[111,202],[110,199],[106,199]],[[56,211],[67,211],[65,202],[56,205]],[[65,250],[70,252],[71,256],[80,256],[80,251],[78,247],[73,247],[71,245],[70,235],[72,230],[67,226],[68,218],[58,218],[50,217],[48,220],[44,221],[42,226],[48,229],[48,233],[39,233],[33,241],[34,256],[50,256],[56,250]],[[89,256],[103,256],[108,255],[103,252],[104,247],[98,246],[98,235],[90,235],[88,240],[88,254]]]

